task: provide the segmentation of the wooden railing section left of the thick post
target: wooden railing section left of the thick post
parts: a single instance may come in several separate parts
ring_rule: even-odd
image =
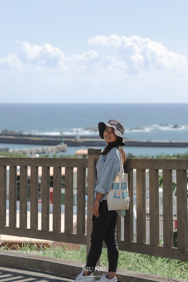
[[[86,245],[85,198],[88,159],[0,158],[0,234]],[[6,170],[9,170],[9,222],[6,226]],[[16,227],[17,166],[20,166],[19,227]],[[27,228],[27,171],[30,175],[30,228]],[[41,228],[38,229],[38,168],[42,167]],[[50,219],[50,167],[53,167],[53,231]],[[61,168],[65,167],[65,228],[61,232]],[[73,168],[77,167],[77,228],[73,234]]]

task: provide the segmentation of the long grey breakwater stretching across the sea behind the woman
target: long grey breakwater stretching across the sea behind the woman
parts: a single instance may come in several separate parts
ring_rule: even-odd
[[[60,144],[61,136],[32,135],[32,134],[3,134],[0,133],[0,143],[6,144],[32,144],[54,146]],[[64,144],[67,146],[105,146],[106,142],[99,136],[81,135],[64,136]],[[179,140],[134,140],[125,138],[125,143],[130,147],[188,147],[188,141]]]

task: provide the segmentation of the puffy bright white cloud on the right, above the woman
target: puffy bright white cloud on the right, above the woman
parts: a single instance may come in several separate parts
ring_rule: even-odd
[[[187,71],[188,62],[185,56],[178,55],[148,38],[98,35],[88,40],[89,44],[113,46],[127,63],[128,71],[138,72],[149,67],[168,71]]]

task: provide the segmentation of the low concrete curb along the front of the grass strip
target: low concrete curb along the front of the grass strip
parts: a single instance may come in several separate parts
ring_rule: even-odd
[[[85,266],[83,262],[70,259],[58,259],[10,251],[0,251],[0,265],[62,274],[73,279],[81,273]],[[107,273],[108,267],[103,266],[103,269],[104,267],[106,271],[100,271],[99,267],[99,271],[96,270],[93,273],[96,276],[96,280],[99,280],[103,273]],[[124,269],[118,269],[116,276],[117,279],[120,279],[119,282],[187,282],[185,280]]]

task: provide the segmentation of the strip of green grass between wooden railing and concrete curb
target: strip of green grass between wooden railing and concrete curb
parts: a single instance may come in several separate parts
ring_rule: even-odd
[[[31,245],[30,243],[23,243],[21,248],[18,245],[14,246],[14,248],[15,247],[15,251],[19,253],[30,253],[35,255],[86,262],[85,246],[81,246],[81,248],[76,250],[71,249],[68,251],[65,245],[63,247],[52,246],[49,248],[42,244],[40,247],[37,247],[36,244]],[[8,248],[7,246],[0,248],[0,250],[6,251],[10,251],[11,249],[12,248]],[[101,265],[108,265],[107,249],[102,250],[100,263]],[[187,280],[188,277],[188,262],[123,251],[119,251],[118,268],[162,275],[175,279]]]

